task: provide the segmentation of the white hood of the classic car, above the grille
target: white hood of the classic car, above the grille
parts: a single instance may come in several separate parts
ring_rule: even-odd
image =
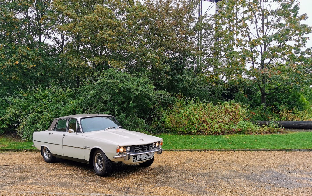
[[[150,144],[161,140],[161,138],[156,136],[135,131],[128,131],[126,129],[92,131],[83,133],[83,136],[95,138],[97,140],[111,141],[119,144],[120,146]]]

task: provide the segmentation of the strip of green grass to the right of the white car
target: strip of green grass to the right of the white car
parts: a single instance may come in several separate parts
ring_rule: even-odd
[[[266,135],[177,135],[159,134],[163,149],[312,149],[312,132]]]

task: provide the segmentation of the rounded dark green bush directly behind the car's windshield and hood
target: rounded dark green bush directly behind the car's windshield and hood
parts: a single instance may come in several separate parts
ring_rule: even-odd
[[[108,69],[96,72],[79,88],[79,105],[85,113],[113,115],[127,129],[152,131],[155,111],[171,102],[170,93],[155,90],[145,76]]]

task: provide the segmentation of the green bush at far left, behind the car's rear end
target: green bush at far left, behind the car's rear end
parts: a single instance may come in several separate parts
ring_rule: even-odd
[[[31,140],[34,131],[49,128],[53,119],[81,113],[74,100],[75,92],[59,86],[32,87],[19,90],[4,100],[9,104],[0,118],[0,126],[17,130],[23,139]]]

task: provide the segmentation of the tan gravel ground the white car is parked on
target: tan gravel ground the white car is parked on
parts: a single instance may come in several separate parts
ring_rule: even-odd
[[[164,151],[149,168],[0,153],[0,195],[312,195],[312,152]]]

